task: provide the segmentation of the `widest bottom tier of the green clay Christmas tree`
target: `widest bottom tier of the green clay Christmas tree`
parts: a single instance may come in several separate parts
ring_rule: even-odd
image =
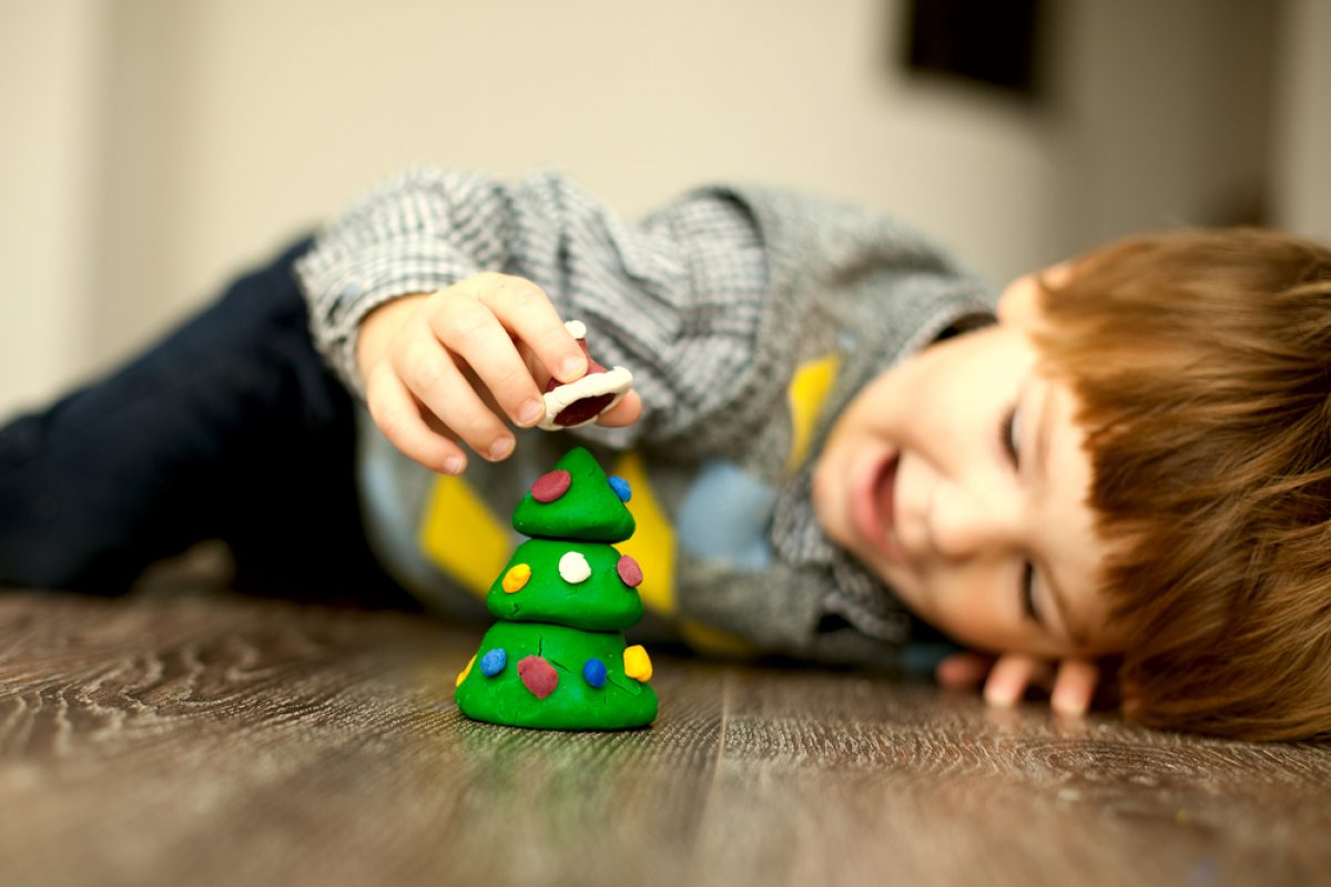
[[[656,692],[646,684],[650,661],[638,648],[626,669],[624,649],[620,632],[495,622],[458,676],[458,707],[475,721],[514,727],[647,726],[656,718]]]

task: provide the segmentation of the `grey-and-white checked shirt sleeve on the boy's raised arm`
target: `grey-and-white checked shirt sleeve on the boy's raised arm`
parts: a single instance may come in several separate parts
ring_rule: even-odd
[[[687,434],[723,404],[768,299],[739,201],[699,191],[628,225],[554,173],[507,184],[411,170],[321,231],[295,270],[315,344],[357,394],[357,330],[374,307],[480,271],[531,279],[587,324],[600,363],[632,371],[643,418],[604,435],[618,445]]]

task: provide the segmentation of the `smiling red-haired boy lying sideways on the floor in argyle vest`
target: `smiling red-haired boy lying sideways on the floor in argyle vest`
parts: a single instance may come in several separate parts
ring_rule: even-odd
[[[651,549],[635,557],[660,577],[644,602],[693,642],[909,666],[941,632],[988,656],[950,657],[940,678],[985,680],[994,703],[1055,668],[1053,703],[1083,710],[1098,664],[1121,657],[1143,722],[1331,730],[1322,247],[1130,242],[1017,282],[994,326],[982,286],[866,213],[717,189],[627,227],[554,176],[419,170],[297,253],[315,342],[379,430],[362,422],[357,455],[375,559],[442,609],[479,610],[465,589],[503,555],[492,515],[572,443],[527,428],[542,386],[586,370],[562,326],[576,318],[594,356],[635,372],[638,395],[586,438],[634,480]],[[112,548],[164,513],[177,544],[194,535],[177,475],[221,508],[244,500],[244,477],[205,487],[197,465],[278,465],[265,483],[286,489],[301,453],[337,449],[318,442],[349,411],[307,358],[278,360],[298,367],[294,394],[209,428],[202,457],[173,444],[154,484],[177,511],[146,497],[110,521],[140,528]],[[295,404],[334,418],[277,424]],[[56,438],[41,424],[25,452]],[[287,453],[261,459],[265,444]],[[281,560],[286,540],[246,533],[244,512],[242,567],[265,539]],[[0,531],[4,577],[40,581],[9,567],[36,543]],[[109,557],[105,539],[76,548]]]

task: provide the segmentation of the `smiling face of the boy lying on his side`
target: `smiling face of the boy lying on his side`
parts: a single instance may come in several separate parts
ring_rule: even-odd
[[[837,419],[813,475],[828,536],[953,640],[1047,657],[1119,652],[1097,596],[1071,390],[1037,372],[1033,278],[1000,323],[925,348]],[[1009,424],[1010,420],[1010,424]]]

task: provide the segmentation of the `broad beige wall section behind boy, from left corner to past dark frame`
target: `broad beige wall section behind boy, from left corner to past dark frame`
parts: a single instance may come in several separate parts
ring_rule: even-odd
[[[418,161],[556,166],[628,214],[756,178],[962,235],[977,205],[1045,193],[1054,166],[1026,118],[902,94],[876,0],[120,8],[108,285],[153,306],[198,298]],[[972,239],[993,262],[1029,253],[1040,226],[1025,213]],[[104,320],[132,335],[118,311]]]

